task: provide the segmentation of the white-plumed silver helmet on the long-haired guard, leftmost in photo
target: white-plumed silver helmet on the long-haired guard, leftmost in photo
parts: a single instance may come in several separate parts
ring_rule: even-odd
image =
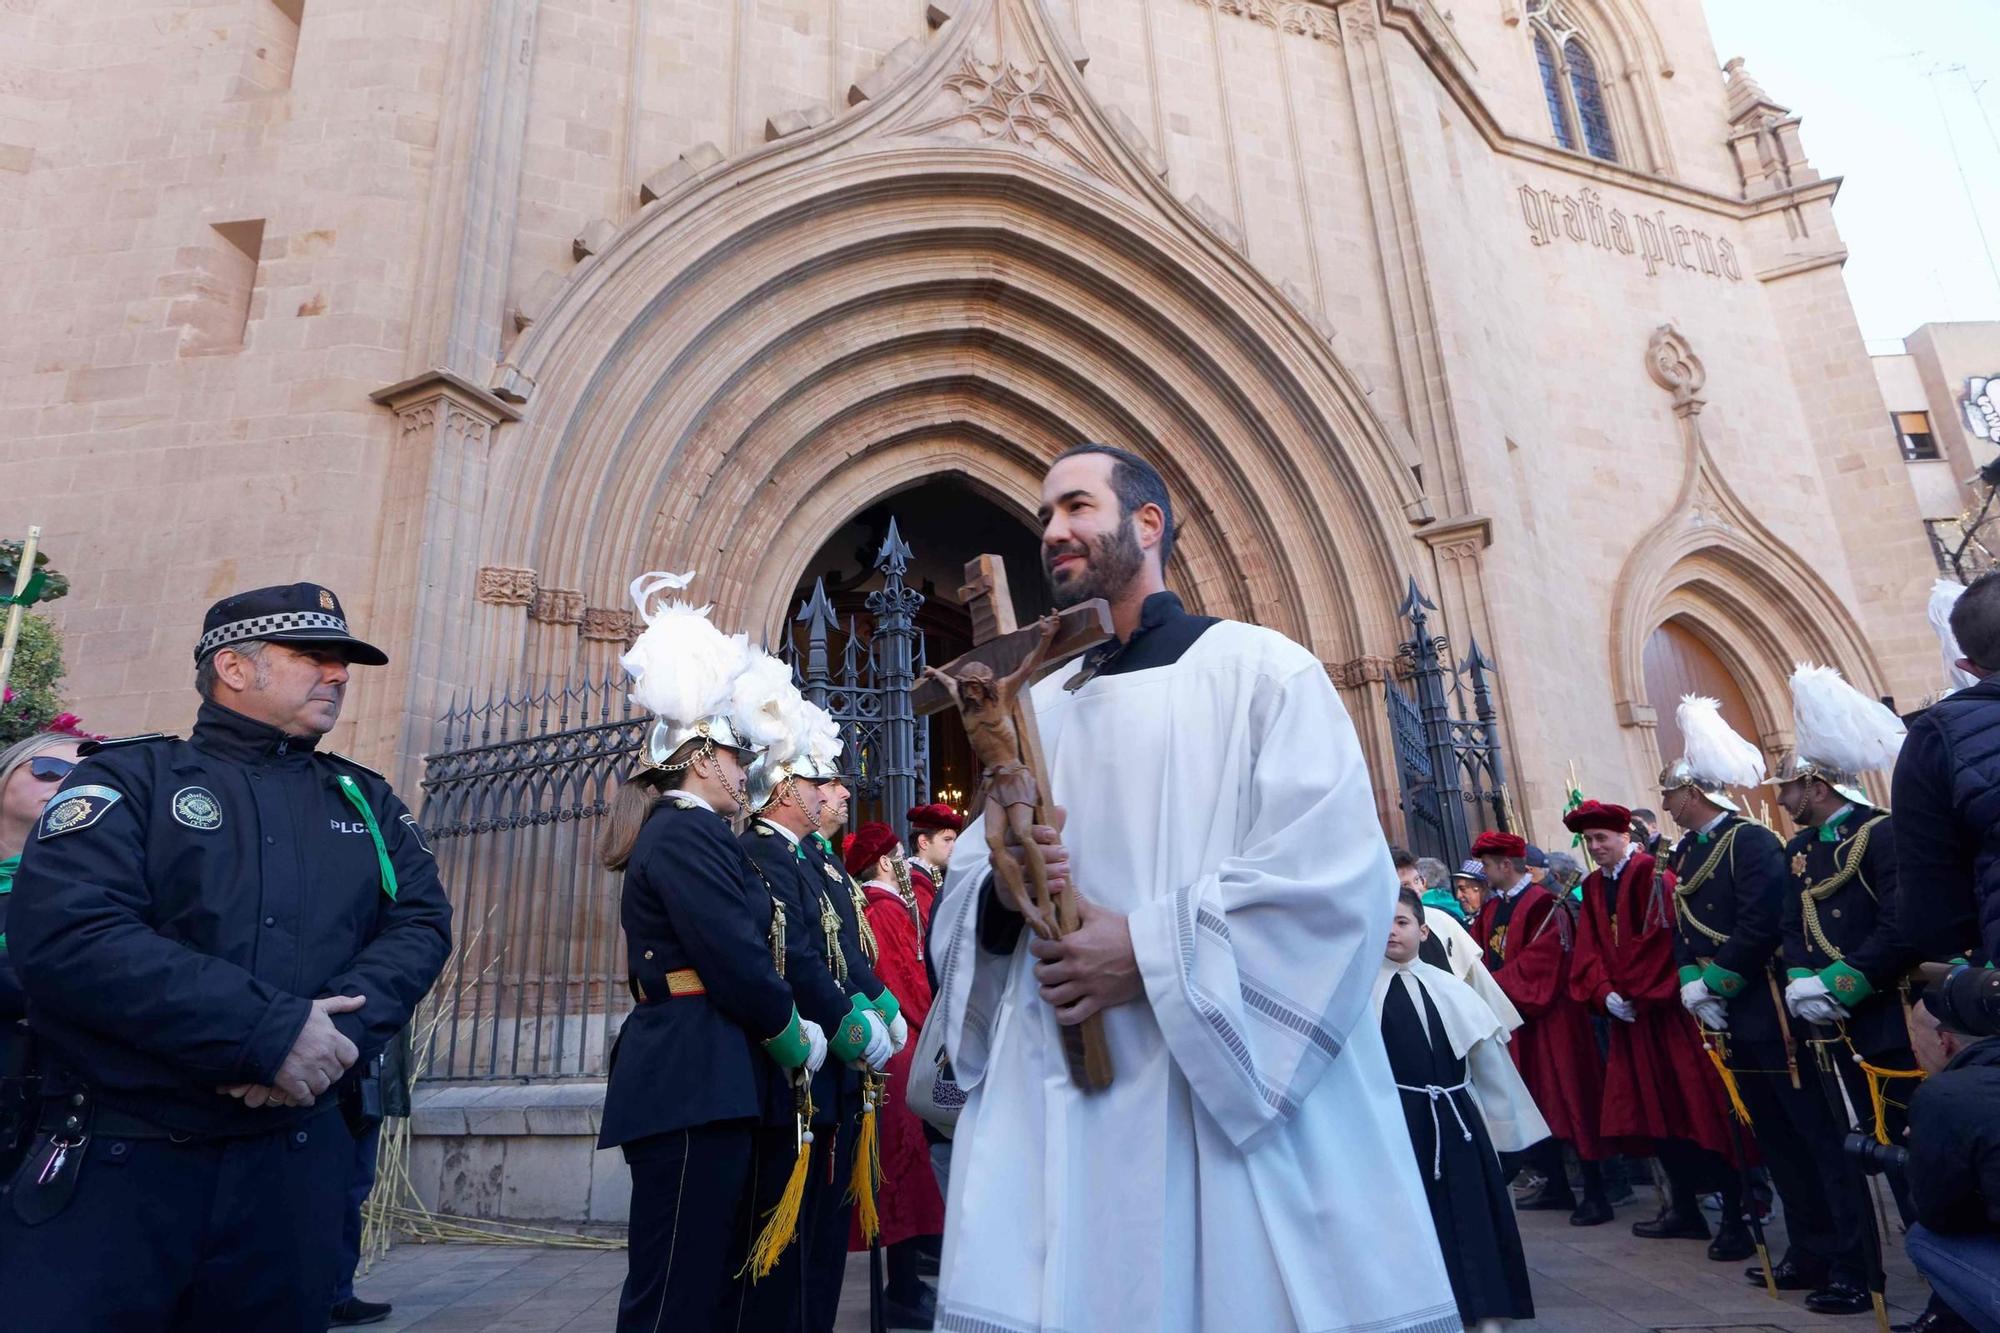
[[[618,658],[632,681],[632,703],[652,715],[640,763],[668,769],[680,747],[704,741],[752,753],[730,721],[736,677],[748,664],[748,642],[728,636],[708,620],[708,606],[674,598],[694,582],[694,572],[650,572],[632,580],[632,602],[644,628]]]

